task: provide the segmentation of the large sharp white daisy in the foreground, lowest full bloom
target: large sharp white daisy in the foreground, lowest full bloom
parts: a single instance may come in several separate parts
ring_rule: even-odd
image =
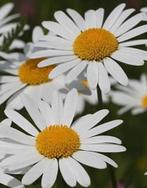
[[[106,163],[117,167],[112,159],[100,154],[126,150],[118,138],[101,135],[122,123],[122,120],[113,120],[97,125],[108,110],[73,122],[77,103],[75,89],[68,93],[64,104],[57,93],[51,105],[44,101],[35,103],[28,96],[22,100],[35,126],[18,112],[5,110],[6,116],[23,132],[12,127],[0,132],[5,138],[0,141],[0,151],[11,154],[0,166],[10,171],[30,167],[22,178],[24,185],[30,185],[42,176],[41,187],[52,187],[60,170],[69,186],[76,186],[78,182],[87,187],[90,178],[80,163],[97,169],[106,168]],[[13,142],[7,142],[6,138]]]

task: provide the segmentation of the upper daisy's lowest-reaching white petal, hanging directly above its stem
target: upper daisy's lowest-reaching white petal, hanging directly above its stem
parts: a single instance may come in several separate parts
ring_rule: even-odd
[[[102,63],[98,63],[98,82],[102,92],[108,93],[110,91],[109,77]]]

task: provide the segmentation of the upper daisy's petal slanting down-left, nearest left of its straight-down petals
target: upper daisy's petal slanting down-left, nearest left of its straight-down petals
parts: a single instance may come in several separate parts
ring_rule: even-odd
[[[81,73],[82,71],[86,68],[87,63],[82,61],[81,63],[79,63],[77,66],[75,66],[66,76],[66,83],[70,83],[71,81],[73,81],[74,79],[76,79]]]

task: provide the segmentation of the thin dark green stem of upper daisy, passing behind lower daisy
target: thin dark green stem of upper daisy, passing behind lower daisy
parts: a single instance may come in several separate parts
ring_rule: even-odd
[[[103,107],[102,92],[99,87],[97,87],[97,96],[98,96],[98,105],[100,107]],[[112,188],[117,188],[117,180],[116,180],[114,168],[109,165],[108,169],[109,169],[109,173],[110,173]]]

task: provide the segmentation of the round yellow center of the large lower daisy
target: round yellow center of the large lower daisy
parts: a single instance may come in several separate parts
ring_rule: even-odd
[[[38,152],[49,159],[69,157],[79,147],[78,134],[73,129],[63,125],[49,126],[36,138]]]

